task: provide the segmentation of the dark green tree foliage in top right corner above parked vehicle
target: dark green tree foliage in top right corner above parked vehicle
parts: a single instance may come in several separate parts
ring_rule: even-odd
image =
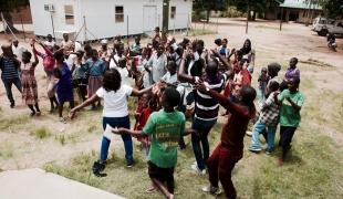
[[[343,19],[343,1],[342,0],[320,0],[324,13],[329,18]]]

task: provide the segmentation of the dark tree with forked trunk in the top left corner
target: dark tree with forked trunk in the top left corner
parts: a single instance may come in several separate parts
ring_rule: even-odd
[[[8,23],[8,27],[6,28],[6,32],[10,33],[11,29],[14,33],[18,33],[19,31],[13,27],[13,21],[11,13],[15,9],[19,9],[20,7],[24,7],[29,4],[29,0],[0,0],[0,12],[3,14],[4,20]]]

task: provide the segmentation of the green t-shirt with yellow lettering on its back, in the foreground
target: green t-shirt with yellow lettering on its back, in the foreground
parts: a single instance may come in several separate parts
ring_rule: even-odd
[[[172,168],[177,163],[178,140],[185,130],[185,115],[164,109],[153,113],[143,133],[152,136],[148,159],[160,168]]]

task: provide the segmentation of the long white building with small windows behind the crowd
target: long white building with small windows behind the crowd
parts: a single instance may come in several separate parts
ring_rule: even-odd
[[[60,39],[66,32],[85,41],[162,27],[163,0],[30,0],[30,7],[34,34],[40,36],[54,32]],[[170,0],[169,30],[189,27],[191,7],[193,0]]]

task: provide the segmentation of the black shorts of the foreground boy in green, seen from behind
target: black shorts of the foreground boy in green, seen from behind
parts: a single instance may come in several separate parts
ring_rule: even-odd
[[[160,168],[160,167],[157,167],[152,161],[148,161],[147,165],[148,165],[148,174],[150,178],[158,179],[160,182],[174,180],[174,167]]]

